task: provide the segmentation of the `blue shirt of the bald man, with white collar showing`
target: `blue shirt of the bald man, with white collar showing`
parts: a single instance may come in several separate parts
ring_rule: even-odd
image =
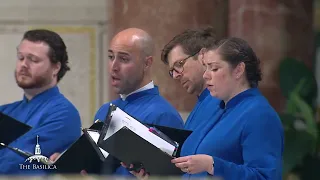
[[[158,87],[140,91],[129,95],[126,100],[120,98],[111,102],[120,109],[141,121],[142,123],[156,124],[174,128],[183,128],[183,120],[174,107],[159,94]],[[95,120],[104,121],[110,103],[104,104],[96,113]],[[131,174],[122,166],[117,168],[116,175]]]

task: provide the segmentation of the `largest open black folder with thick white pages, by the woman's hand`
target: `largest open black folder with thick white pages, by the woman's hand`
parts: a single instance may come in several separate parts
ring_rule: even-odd
[[[172,156],[163,152],[158,147],[149,143],[145,139],[141,138],[139,135],[132,132],[125,126],[119,131],[115,132],[112,136],[104,140],[109,127],[112,128],[112,112],[117,110],[117,108],[118,107],[116,105],[110,104],[109,113],[106,120],[104,121],[98,140],[98,146],[109,153],[108,158],[115,158],[116,160],[114,160],[114,163],[118,161],[118,164],[119,162],[133,164],[133,169],[135,170],[144,168],[149,174],[156,176],[173,176],[184,173],[173,163],[171,163],[171,160],[173,159]],[[134,116],[130,114],[128,115],[137,120],[137,118],[135,118]],[[184,141],[192,133],[192,131],[184,129],[176,129],[147,123],[141,124],[147,127],[155,127],[171,140],[177,142],[179,144],[179,148],[177,150],[176,157],[180,156],[181,147]]]

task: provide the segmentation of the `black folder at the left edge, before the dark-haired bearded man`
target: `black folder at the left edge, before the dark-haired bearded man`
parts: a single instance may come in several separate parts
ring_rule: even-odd
[[[0,112],[0,142],[8,145],[27,133],[32,127]],[[0,146],[0,149],[3,148]]]

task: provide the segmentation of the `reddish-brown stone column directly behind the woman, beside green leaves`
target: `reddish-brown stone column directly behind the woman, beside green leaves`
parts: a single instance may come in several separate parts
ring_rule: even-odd
[[[312,0],[229,0],[228,34],[247,40],[261,59],[261,91],[276,110],[284,107],[278,80],[282,58],[312,66],[312,5]]]

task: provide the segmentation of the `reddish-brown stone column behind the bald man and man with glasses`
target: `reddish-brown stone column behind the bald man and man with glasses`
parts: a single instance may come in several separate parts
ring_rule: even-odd
[[[218,36],[227,33],[227,1],[222,0],[114,0],[112,33],[129,27],[142,28],[156,42],[153,80],[160,93],[180,112],[189,112],[196,97],[190,96],[168,75],[161,62],[163,46],[186,28],[211,25]],[[111,97],[116,97],[112,94]]]

